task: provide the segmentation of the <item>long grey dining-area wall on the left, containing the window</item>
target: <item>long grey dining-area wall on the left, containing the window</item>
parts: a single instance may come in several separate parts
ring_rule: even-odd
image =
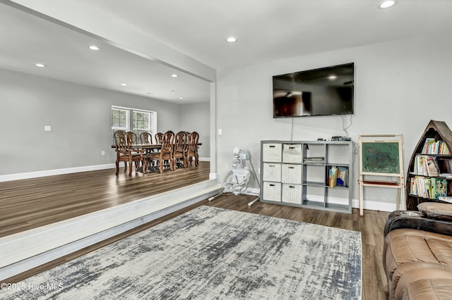
[[[179,104],[0,70],[0,175],[114,163],[112,105],[157,111],[157,130],[182,126]],[[190,118],[206,117],[191,111],[184,126]]]

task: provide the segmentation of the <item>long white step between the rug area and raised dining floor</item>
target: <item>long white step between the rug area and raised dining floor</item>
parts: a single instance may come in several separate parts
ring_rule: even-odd
[[[102,242],[220,193],[216,180],[0,238],[0,280]]]

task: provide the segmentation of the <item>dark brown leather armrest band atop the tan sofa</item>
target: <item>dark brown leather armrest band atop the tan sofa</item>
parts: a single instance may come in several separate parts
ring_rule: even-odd
[[[399,228],[424,230],[452,237],[452,221],[434,220],[423,217],[420,213],[418,215],[405,215],[405,213],[405,211],[393,211],[388,215],[384,226],[385,237],[391,230]]]

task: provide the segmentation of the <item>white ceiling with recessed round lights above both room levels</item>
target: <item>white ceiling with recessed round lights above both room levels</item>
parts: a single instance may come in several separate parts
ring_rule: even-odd
[[[387,10],[377,8],[380,0],[65,0],[54,1],[54,9],[64,10],[69,2],[101,11],[109,15],[105,22],[127,23],[217,70],[452,34],[450,0],[398,0]],[[205,80],[10,5],[0,1],[0,68],[179,104],[209,101]],[[231,35],[238,39],[234,44],[225,42]],[[90,51],[90,44],[101,50]],[[38,62],[47,68],[35,67]]]

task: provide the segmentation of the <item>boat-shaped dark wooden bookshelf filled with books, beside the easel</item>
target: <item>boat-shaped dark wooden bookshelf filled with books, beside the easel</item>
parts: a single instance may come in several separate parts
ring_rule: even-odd
[[[407,209],[422,202],[452,201],[452,131],[443,121],[430,120],[408,165]]]

